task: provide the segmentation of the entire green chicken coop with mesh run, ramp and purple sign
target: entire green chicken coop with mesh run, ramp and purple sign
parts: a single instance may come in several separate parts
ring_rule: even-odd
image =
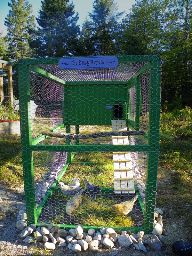
[[[152,232],[160,90],[160,56],[19,60],[28,224]]]

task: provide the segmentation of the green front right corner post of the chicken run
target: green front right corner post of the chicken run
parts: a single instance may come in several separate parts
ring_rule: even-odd
[[[156,182],[159,153],[159,128],[160,128],[160,94],[161,94],[161,58],[154,56],[151,60],[149,78],[149,129],[148,144],[152,150],[148,152],[144,229],[152,233],[155,203],[156,203]]]

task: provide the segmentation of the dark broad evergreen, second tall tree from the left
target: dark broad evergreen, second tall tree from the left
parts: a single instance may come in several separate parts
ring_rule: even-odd
[[[41,56],[57,57],[74,55],[77,51],[79,18],[69,0],[44,0],[37,18],[39,38],[36,45]]]

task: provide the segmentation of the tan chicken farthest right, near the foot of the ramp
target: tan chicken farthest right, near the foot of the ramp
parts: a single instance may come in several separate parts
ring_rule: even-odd
[[[115,209],[117,215],[127,215],[129,212],[132,211],[133,205],[137,198],[138,195],[134,196],[129,201],[121,202],[120,204],[114,204],[112,208]]]

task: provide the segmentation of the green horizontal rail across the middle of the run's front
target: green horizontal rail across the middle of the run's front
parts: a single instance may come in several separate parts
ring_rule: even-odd
[[[66,151],[66,152],[115,152],[115,151],[154,151],[154,145],[32,145],[22,147],[29,151]]]

